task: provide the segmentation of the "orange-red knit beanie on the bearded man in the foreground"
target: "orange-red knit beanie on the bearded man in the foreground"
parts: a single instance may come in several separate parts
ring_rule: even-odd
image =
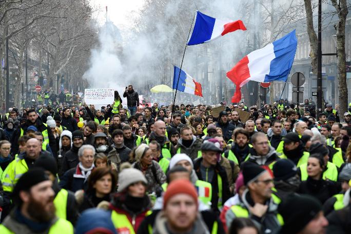
[[[198,193],[195,187],[191,184],[190,181],[179,179],[172,181],[168,185],[167,190],[163,196],[163,208],[166,207],[167,202],[171,197],[180,193],[185,193],[191,196],[195,200],[196,205],[198,206]]]

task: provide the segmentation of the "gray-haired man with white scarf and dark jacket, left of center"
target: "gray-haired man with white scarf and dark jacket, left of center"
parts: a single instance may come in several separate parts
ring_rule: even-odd
[[[59,185],[72,192],[86,190],[88,177],[94,169],[94,155],[95,148],[92,145],[83,145],[78,150],[79,164],[65,172]]]

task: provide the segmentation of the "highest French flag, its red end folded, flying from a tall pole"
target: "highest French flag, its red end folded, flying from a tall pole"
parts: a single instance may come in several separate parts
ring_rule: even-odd
[[[238,29],[246,30],[242,21],[224,21],[197,11],[194,29],[187,43],[188,46],[210,42],[220,36]]]

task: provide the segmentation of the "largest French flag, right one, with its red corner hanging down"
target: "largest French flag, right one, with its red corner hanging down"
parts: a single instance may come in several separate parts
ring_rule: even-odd
[[[262,49],[246,55],[227,72],[227,77],[237,86],[231,101],[233,103],[240,102],[240,88],[249,81],[286,82],[294,63],[296,48],[297,38],[294,30]]]

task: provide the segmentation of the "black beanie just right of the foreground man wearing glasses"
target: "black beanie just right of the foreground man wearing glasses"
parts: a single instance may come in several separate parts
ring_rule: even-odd
[[[273,165],[273,174],[275,181],[285,181],[294,177],[297,173],[297,167],[293,161],[289,159],[278,160]]]

